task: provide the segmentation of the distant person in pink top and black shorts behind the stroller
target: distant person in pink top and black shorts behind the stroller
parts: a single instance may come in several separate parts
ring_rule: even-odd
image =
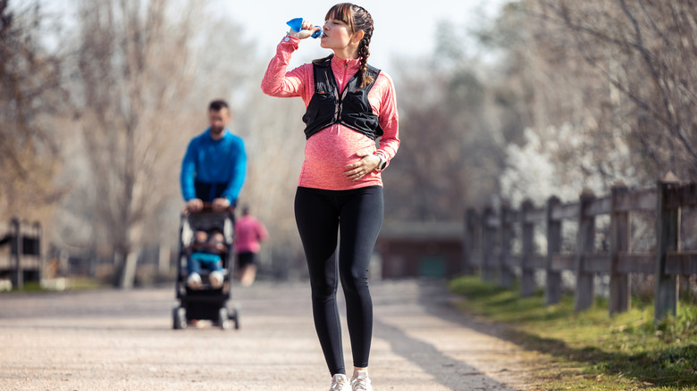
[[[261,249],[260,242],[269,236],[264,224],[249,214],[249,207],[242,208],[242,217],[235,222],[235,254],[239,283],[249,287],[256,279],[256,254]]]

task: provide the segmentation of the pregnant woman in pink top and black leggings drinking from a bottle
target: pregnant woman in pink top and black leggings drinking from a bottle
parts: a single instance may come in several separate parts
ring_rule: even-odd
[[[288,71],[300,41],[318,29],[320,46],[333,54]],[[270,96],[298,96],[306,106],[302,120],[307,142],[295,216],[331,391],[372,391],[367,372],[373,335],[368,263],[384,214],[382,171],[399,148],[392,79],[367,63],[373,29],[373,18],[363,7],[332,6],[322,28],[303,21],[300,31],[290,29],[276,47],[261,86]],[[350,381],[336,302],[339,280],[353,354]]]

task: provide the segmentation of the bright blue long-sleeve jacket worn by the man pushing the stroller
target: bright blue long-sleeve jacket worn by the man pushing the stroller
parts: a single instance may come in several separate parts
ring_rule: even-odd
[[[184,201],[200,198],[212,202],[214,198],[227,198],[234,205],[247,174],[244,141],[229,129],[216,141],[209,130],[189,142],[181,162],[181,195]]]

